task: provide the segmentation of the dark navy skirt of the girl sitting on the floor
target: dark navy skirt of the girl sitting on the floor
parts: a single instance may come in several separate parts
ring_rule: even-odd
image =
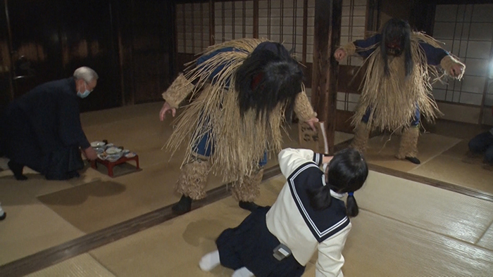
[[[281,261],[273,256],[279,240],[268,231],[266,214],[270,207],[258,207],[236,228],[228,228],[216,240],[220,263],[230,269],[245,266],[256,277],[303,275],[305,266],[293,255]]]

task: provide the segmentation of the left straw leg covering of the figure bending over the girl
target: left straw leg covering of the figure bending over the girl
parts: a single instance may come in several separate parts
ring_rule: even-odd
[[[206,197],[207,176],[210,170],[211,162],[199,158],[183,165],[176,182],[176,191],[193,200]]]

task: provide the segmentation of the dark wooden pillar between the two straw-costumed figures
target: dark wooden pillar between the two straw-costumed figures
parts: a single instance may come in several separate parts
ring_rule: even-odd
[[[340,42],[342,0],[315,1],[311,103],[325,122],[329,153],[334,153],[338,65],[333,53]]]

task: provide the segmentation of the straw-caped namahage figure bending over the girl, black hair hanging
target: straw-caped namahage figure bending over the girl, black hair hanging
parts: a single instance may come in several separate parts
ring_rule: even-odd
[[[189,97],[166,147],[185,141],[185,159],[176,190],[182,194],[173,212],[191,210],[204,198],[208,173],[232,181],[232,195],[246,210],[256,208],[269,150],[281,150],[285,113],[294,110],[313,127],[316,113],[304,93],[303,72],[282,44],[237,39],[210,46],[163,93],[160,112],[175,115]]]

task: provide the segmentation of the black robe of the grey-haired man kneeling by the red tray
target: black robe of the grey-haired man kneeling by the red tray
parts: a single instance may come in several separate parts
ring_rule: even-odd
[[[46,179],[75,176],[84,167],[79,148],[90,146],[75,91],[74,78],[61,79],[37,86],[8,105],[0,135],[6,156]]]

